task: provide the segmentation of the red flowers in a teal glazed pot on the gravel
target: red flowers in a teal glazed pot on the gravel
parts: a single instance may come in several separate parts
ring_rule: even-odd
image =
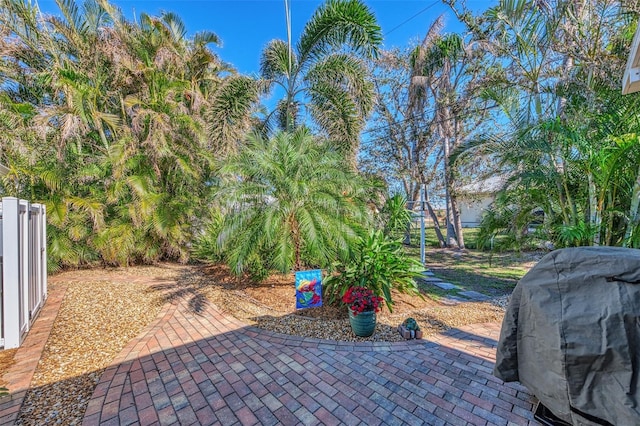
[[[382,308],[383,298],[366,287],[349,287],[342,302],[349,307],[349,323],[356,336],[368,337],[376,329],[376,313]]]

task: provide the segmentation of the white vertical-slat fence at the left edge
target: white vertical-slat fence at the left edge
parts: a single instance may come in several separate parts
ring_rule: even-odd
[[[0,347],[17,348],[47,298],[45,206],[2,198],[0,265]]]

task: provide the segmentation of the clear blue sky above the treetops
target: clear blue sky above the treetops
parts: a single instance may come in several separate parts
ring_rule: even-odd
[[[81,4],[81,2],[78,2]],[[222,47],[214,47],[220,57],[244,74],[257,74],[260,53],[275,38],[286,40],[287,30],[284,0],[111,0],[129,19],[141,12],[158,15],[162,11],[177,13],[190,34],[213,31],[222,39]],[[305,23],[323,2],[291,0],[293,41],[298,39]],[[442,13],[446,16],[445,31],[460,29],[455,16],[440,0],[369,0],[382,27],[384,47],[406,46],[420,40],[429,25]],[[467,5],[482,11],[496,0],[467,0]],[[43,12],[56,13],[53,0],[38,0]]]

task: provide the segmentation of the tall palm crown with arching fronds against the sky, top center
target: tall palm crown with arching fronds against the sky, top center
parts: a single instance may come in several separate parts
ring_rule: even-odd
[[[262,53],[261,74],[284,97],[267,117],[267,126],[291,132],[306,108],[354,163],[374,99],[362,59],[374,57],[381,42],[380,27],[360,0],[328,0],[306,24],[295,49],[285,41],[271,41]]]

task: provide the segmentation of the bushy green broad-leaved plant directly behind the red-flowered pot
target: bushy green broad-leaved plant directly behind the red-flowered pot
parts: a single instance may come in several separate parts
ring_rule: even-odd
[[[337,265],[338,274],[325,280],[330,300],[342,297],[351,287],[371,289],[393,312],[393,289],[420,295],[415,278],[422,266],[402,251],[402,245],[381,230],[372,230],[356,245],[351,259]]]

